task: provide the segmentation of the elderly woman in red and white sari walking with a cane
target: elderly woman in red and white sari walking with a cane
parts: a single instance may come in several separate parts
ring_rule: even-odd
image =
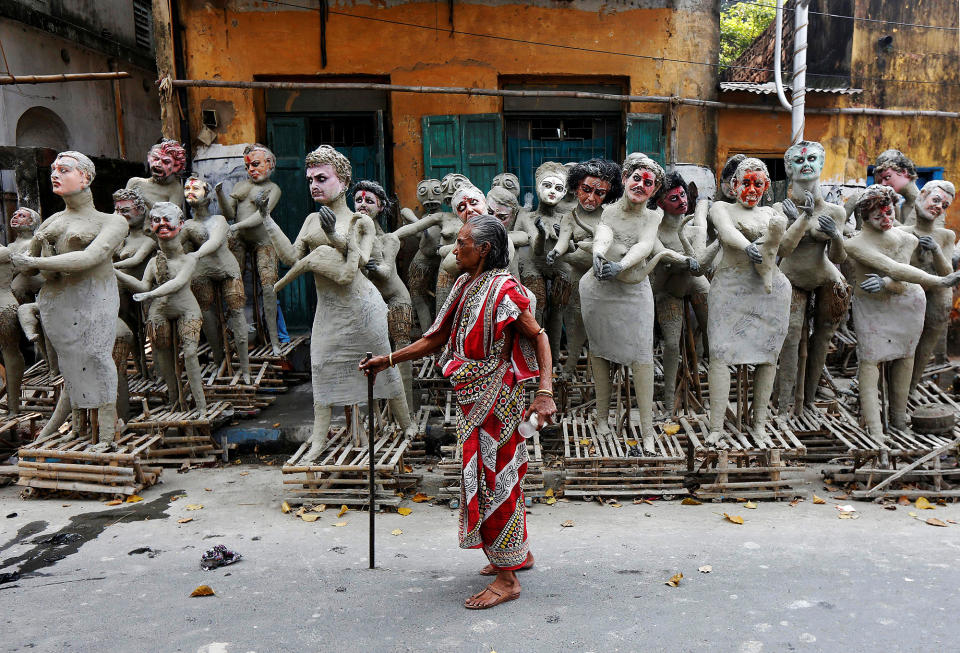
[[[507,230],[487,214],[483,194],[459,189],[453,201],[466,224],[454,250],[457,278],[423,337],[361,364],[377,374],[443,348],[438,365],[460,406],[457,444],[463,451],[460,546],[482,548],[497,578],[468,598],[471,610],[520,596],[516,571],[533,564],[527,541],[523,477],[527,445],[518,426],[535,413],[542,428],[556,413],[550,343],[530,310],[531,294],[507,267]],[[533,403],[523,410],[523,382],[540,375]]]

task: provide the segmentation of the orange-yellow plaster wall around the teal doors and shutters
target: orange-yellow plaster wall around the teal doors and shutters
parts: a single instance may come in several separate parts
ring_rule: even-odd
[[[306,0],[298,0],[307,4]],[[693,61],[714,61],[718,48],[714,3],[688,2],[690,10],[667,8],[667,0],[636,3],[583,0],[570,3],[502,0],[455,3],[457,30],[517,37],[613,52]],[[492,40],[448,30],[446,3],[336,3],[336,11],[437,26],[415,29],[385,22],[331,15],[327,23],[328,65],[320,64],[320,17],[316,11],[241,0],[181,0],[186,29],[186,74],[192,79],[253,80],[255,76],[379,75],[394,84],[496,88],[501,75],[585,76],[629,79],[636,95],[681,94],[715,98],[715,70],[707,66]],[[554,79],[553,81],[558,81]],[[218,142],[262,140],[264,115],[256,91],[190,89],[191,132],[200,128],[204,100],[234,104]],[[401,200],[415,197],[423,171],[424,115],[499,112],[499,98],[393,93],[390,99],[393,178]],[[630,111],[667,113],[667,105],[633,105]],[[683,125],[673,144],[678,161],[709,163],[714,158],[713,112],[681,109]],[[315,146],[317,144],[305,144]],[[670,156],[668,152],[668,157]]]

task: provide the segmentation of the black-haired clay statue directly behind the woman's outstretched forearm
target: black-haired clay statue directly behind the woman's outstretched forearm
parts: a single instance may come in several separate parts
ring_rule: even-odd
[[[393,220],[393,202],[387,197],[383,186],[375,181],[361,180],[353,187],[353,206],[357,213],[373,220],[377,236],[370,251],[370,260],[364,265],[367,278],[380,291],[387,303],[387,331],[390,344],[396,351],[410,344],[410,329],[413,327],[413,301],[397,271],[397,254],[400,239],[395,233],[384,232],[378,218],[385,217],[387,224]],[[409,362],[400,363],[400,378],[407,408],[413,403],[413,371]]]

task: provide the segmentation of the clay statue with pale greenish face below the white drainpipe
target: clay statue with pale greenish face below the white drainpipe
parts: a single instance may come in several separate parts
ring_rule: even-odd
[[[802,392],[802,404],[812,406],[827,349],[833,334],[843,322],[850,306],[850,289],[838,266],[847,255],[843,247],[843,207],[830,204],[820,191],[820,173],[826,152],[820,143],[800,141],[787,148],[783,162],[790,180],[788,197],[774,205],[788,222],[798,219],[799,211],[808,218],[808,226],[793,253],[783,259],[780,269],[793,288],[790,300],[790,326],[780,351],[778,408],[790,413],[795,395]],[[815,219],[810,219],[815,218]],[[807,347],[804,369],[798,369],[801,335],[807,325],[807,304],[813,306],[813,333]]]

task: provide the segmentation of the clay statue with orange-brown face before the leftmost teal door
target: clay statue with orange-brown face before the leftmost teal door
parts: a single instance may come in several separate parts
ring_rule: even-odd
[[[280,187],[270,181],[277,158],[266,146],[254,143],[243,150],[243,165],[247,178],[223,194],[222,182],[216,185],[217,201],[220,210],[230,225],[230,234],[235,238],[233,254],[243,270],[248,254],[254,257],[260,289],[263,294],[263,320],[266,322],[267,336],[275,356],[280,355],[280,339],[277,336],[277,293],[273,286],[277,282],[277,251],[263,225],[263,215],[258,203],[266,202],[266,212],[270,213],[280,201]],[[261,198],[261,196],[263,196]]]

